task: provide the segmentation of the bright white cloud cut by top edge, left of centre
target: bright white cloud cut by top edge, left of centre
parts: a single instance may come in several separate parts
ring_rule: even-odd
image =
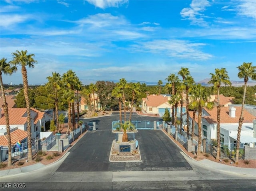
[[[128,3],[128,0],[86,0],[88,3],[93,4],[98,8],[108,8],[108,7],[119,7],[123,4]]]

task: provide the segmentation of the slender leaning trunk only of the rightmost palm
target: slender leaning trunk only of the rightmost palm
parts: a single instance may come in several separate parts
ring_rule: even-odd
[[[244,112],[246,87],[247,87],[247,81],[244,80],[244,95],[243,95],[241,114],[240,114],[240,118],[239,118],[239,122],[238,122],[238,132],[237,132],[237,139],[236,139],[236,159],[235,159],[236,164],[238,164],[238,159],[239,159],[240,136],[241,136],[242,124],[243,124],[243,120],[244,120],[243,112]]]

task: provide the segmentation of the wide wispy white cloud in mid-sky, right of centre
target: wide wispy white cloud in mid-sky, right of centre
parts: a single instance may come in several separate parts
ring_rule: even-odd
[[[144,51],[155,54],[163,54],[168,57],[208,60],[213,55],[200,51],[204,43],[192,43],[186,40],[154,40],[132,45],[133,51]]]

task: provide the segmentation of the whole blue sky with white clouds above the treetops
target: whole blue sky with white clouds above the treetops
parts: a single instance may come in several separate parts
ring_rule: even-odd
[[[28,50],[29,84],[69,69],[98,80],[166,82],[188,67],[195,81],[256,65],[256,0],[0,0],[0,58]],[[3,76],[20,84],[20,69]]]

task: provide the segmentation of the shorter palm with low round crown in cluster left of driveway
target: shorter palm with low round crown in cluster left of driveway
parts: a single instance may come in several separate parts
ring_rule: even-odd
[[[71,128],[72,127],[71,107],[75,99],[74,91],[72,91],[71,89],[66,89],[64,90],[62,96],[64,100],[68,102],[68,130],[66,131],[66,134],[68,134],[68,131],[74,130]]]

